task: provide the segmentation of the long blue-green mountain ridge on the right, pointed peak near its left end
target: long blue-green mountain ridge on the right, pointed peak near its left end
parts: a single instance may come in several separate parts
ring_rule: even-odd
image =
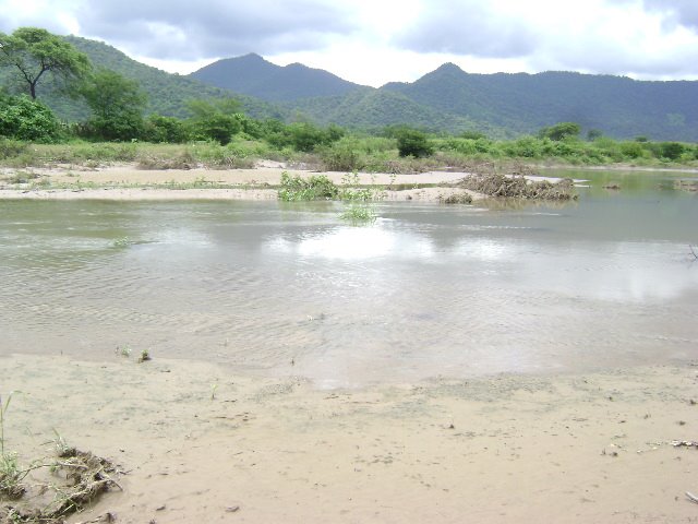
[[[514,134],[574,121],[615,138],[698,140],[698,82],[571,72],[472,74],[447,63],[413,83],[381,90]]]

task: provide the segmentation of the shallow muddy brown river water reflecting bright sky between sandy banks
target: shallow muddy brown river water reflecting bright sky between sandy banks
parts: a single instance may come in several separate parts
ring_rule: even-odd
[[[0,355],[129,347],[325,386],[698,357],[695,193],[573,175],[573,204],[383,203],[361,228],[333,203],[0,202]]]

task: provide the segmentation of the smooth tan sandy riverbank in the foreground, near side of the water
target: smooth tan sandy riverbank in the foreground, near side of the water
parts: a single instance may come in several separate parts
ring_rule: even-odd
[[[12,355],[5,448],[127,472],[69,522],[690,522],[696,368],[317,390],[203,361]]]

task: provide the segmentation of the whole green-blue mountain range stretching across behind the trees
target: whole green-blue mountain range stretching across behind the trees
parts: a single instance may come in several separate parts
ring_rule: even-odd
[[[234,96],[253,118],[305,119],[359,129],[406,123],[431,131],[481,131],[492,138],[534,134],[575,121],[583,130],[627,139],[698,141],[698,82],[646,82],[571,72],[472,74],[446,63],[412,83],[362,86],[302,64],[279,67],[257,55],[218,60],[191,75],[140,63],[118,49],[65,37],[93,64],[140,82],[148,112],[186,117],[193,98]],[[11,70],[0,69],[0,85]],[[50,79],[49,79],[50,80]],[[63,119],[88,115],[80,100],[40,87]]]

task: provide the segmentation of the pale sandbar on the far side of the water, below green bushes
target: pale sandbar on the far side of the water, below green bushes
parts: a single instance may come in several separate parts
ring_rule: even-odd
[[[168,201],[168,200],[277,200],[281,174],[301,177],[325,175],[337,184],[346,172],[321,172],[284,167],[255,169],[167,169],[144,170],[135,165],[107,166],[86,169],[75,166],[33,168],[37,177],[34,183],[9,182],[17,172],[5,169],[0,174],[0,200],[113,200],[113,201]],[[388,188],[383,194],[386,201],[414,200],[441,202],[449,195],[468,193],[474,200],[478,193],[458,188],[420,188],[417,184],[450,183],[460,180],[465,172],[430,171],[419,175],[358,174],[361,184]],[[35,183],[38,180],[44,186]],[[198,187],[192,188],[192,184]],[[51,187],[52,186],[52,187]],[[203,187],[202,187],[203,186]],[[206,186],[213,186],[208,188]],[[390,190],[399,186],[399,190]]]

